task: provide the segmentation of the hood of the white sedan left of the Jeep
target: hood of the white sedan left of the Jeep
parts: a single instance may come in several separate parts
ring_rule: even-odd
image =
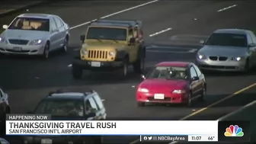
[[[5,30],[2,37],[6,39],[37,40],[49,37],[49,32],[38,30]]]

